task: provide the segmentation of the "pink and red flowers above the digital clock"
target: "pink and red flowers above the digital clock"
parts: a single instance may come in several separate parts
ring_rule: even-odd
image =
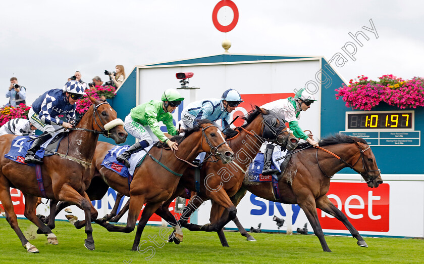
[[[385,102],[400,109],[424,106],[424,78],[413,77],[403,80],[393,74],[379,77],[379,81],[368,80],[366,76],[358,76],[335,91],[336,99],[343,97],[346,107],[352,109],[371,110]]]

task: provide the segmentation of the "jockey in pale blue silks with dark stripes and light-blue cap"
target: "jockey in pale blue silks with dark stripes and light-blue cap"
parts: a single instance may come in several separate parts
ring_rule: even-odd
[[[230,123],[230,113],[242,102],[244,101],[241,100],[240,94],[234,89],[225,91],[221,99],[192,102],[181,113],[181,128],[192,128],[203,119],[209,119],[217,125],[215,121],[221,119],[222,129],[224,129]]]

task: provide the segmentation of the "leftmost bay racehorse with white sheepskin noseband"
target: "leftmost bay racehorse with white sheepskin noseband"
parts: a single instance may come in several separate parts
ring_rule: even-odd
[[[78,125],[70,129],[72,131],[61,141],[55,155],[43,159],[41,174],[44,188],[39,188],[36,167],[5,158],[5,154],[9,152],[11,143],[16,136],[0,137],[0,200],[6,211],[6,220],[28,252],[38,252],[38,249],[28,242],[18,226],[9,192],[11,187],[22,191],[25,197],[25,217],[47,236],[50,244],[58,244],[57,237],[35,215],[38,197],[66,201],[83,209],[88,220],[85,225],[87,239],[85,239],[84,245],[88,249],[94,250],[90,217],[97,217],[97,211],[85,193],[94,171],[94,167],[91,166],[94,155],[93,146],[95,146],[99,134],[111,137],[117,144],[125,142],[128,134],[123,127],[123,121],[117,119],[115,110],[105,100],[102,102],[88,97],[92,106]]]

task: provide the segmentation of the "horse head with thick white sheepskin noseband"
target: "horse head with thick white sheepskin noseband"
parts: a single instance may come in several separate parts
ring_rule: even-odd
[[[117,118],[116,111],[112,109],[103,96],[99,101],[89,95],[87,96],[92,103],[87,113],[92,111],[91,127],[95,133],[103,134],[103,136],[107,138],[112,138],[116,144],[124,143],[128,133],[124,129],[124,122]],[[82,119],[79,126],[80,124],[84,124]]]

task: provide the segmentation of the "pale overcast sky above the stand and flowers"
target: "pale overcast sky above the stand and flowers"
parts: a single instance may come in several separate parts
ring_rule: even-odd
[[[4,1],[0,16],[0,83],[10,78],[27,88],[27,104],[62,88],[76,70],[91,82],[104,70],[202,57],[224,52],[225,33],[212,22],[219,0]],[[394,74],[424,77],[424,2],[420,1],[253,1],[233,0],[237,26],[227,33],[230,53],[325,56],[344,54],[336,70],[349,80]],[[220,11],[228,24],[232,12]],[[372,28],[376,34],[363,29]],[[349,36],[361,30],[362,47]],[[354,42],[348,57],[342,47]],[[350,50],[351,47],[349,47]],[[348,49],[349,49],[348,48]],[[158,80],[160,85],[160,80]],[[168,87],[164,87],[164,90]],[[242,91],[241,91],[242,92]],[[217,95],[218,97],[219,95]]]

